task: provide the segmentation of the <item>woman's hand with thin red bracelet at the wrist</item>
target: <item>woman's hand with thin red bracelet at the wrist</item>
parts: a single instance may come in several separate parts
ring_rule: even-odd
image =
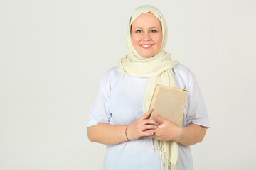
[[[155,120],[147,119],[152,111],[153,109],[149,109],[149,111],[142,115],[141,118],[132,123],[132,125],[128,126],[127,137],[129,140],[137,140],[139,137],[151,136],[154,134],[159,123],[157,123]]]

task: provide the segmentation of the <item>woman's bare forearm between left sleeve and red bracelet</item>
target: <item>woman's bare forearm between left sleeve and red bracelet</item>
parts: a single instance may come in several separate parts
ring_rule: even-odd
[[[126,126],[99,123],[87,127],[87,135],[90,141],[105,145],[115,145],[127,141],[125,136]]]

